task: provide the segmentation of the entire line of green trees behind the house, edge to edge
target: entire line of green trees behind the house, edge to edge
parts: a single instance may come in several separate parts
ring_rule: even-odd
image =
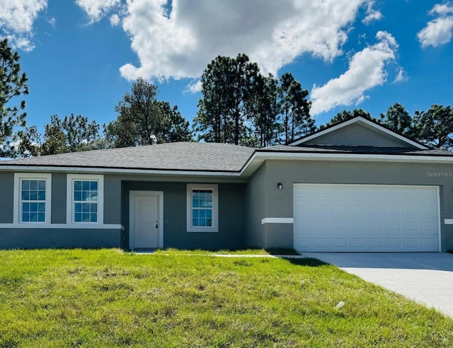
[[[217,57],[202,74],[202,98],[193,129],[177,106],[159,100],[157,86],[137,79],[115,106],[117,118],[101,126],[83,115],[50,117],[44,134],[25,122],[28,78],[20,57],[0,41],[0,157],[143,146],[170,141],[214,141],[265,147],[287,144],[316,130],[310,116],[309,91],[291,73],[280,79],[264,76],[246,54]],[[409,115],[403,105],[392,105],[374,119],[361,109],[338,112],[328,127],[355,116],[366,117],[434,149],[453,149],[453,109],[433,104]]]

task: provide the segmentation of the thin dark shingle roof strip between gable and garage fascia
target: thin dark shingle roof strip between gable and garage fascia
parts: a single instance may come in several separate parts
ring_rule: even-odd
[[[453,156],[452,151],[445,150],[420,150],[405,147],[378,147],[378,146],[334,146],[334,145],[311,145],[311,146],[287,146],[277,145],[259,152],[299,152],[299,153],[362,153],[381,155],[413,155],[413,156]]]

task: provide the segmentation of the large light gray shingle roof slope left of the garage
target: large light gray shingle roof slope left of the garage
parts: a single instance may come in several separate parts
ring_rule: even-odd
[[[239,172],[255,149],[231,144],[176,142],[62,153],[0,161],[1,166],[55,166]]]

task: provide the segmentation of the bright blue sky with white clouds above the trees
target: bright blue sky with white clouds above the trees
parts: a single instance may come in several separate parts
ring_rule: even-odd
[[[217,55],[291,72],[316,124],[452,104],[453,3],[419,0],[0,0],[0,36],[28,75],[28,124],[74,113],[99,124],[142,76],[192,120]]]

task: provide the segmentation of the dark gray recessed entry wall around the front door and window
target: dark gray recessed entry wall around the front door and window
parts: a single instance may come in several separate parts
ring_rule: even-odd
[[[219,231],[188,232],[186,182],[123,182],[123,248],[129,246],[129,197],[131,190],[164,192],[164,248],[238,249],[243,248],[245,226],[245,184],[219,183]]]

